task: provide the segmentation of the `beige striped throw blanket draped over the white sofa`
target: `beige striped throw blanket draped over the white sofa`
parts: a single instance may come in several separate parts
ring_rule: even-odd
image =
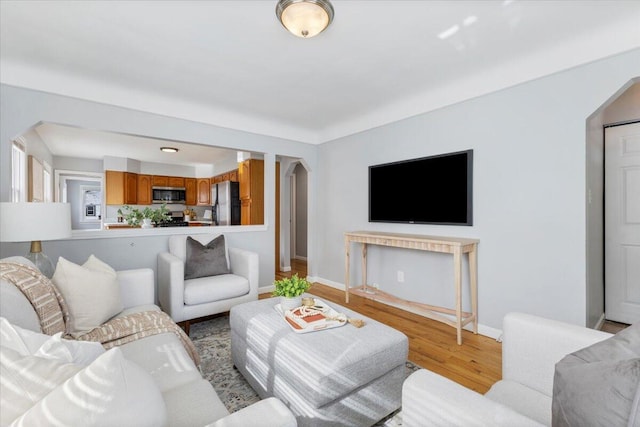
[[[69,319],[67,304],[62,294],[45,275],[28,265],[1,262],[0,278],[13,284],[29,300],[38,315],[42,332],[47,335],[63,332],[66,339],[97,341],[105,349],[109,349],[140,338],[171,332],[180,338],[196,366],[200,366],[200,357],[191,339],[162,311],[145,311],[116,317],[74,338],[66,333],[66,323]]]

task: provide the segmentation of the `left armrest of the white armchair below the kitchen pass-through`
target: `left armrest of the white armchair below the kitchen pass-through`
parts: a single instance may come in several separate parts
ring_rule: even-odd
[[[169,252],[158,254],[158,301],[174,322],[184,318],[184,262]]]

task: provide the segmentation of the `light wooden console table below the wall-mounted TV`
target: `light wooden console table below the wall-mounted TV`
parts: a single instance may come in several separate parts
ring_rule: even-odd
[[[362,243],[362,286],[349,289],[349,253],[351,243]],[[344,234],[346,253],[345,300],[349,302],[349,292],[364,298],[379,301],[398,308],[407,309],[429,319],[437,320],[456,328],[458,345],[462,344],[462,327],[473,322],[473,333],[478,333],[478,243],[477,239],[458,237],[421,236],[412,234],[379,233],[374,231],[354,231]],[[391,246],[420,251],[453,254],[453,282],[456,292],[455,309],[407,301],[367,286],[367,245]],[[469,257],[469,291],[471,313],[462,311],[462,254]],[[455,316],[455,320],[442,314]]]

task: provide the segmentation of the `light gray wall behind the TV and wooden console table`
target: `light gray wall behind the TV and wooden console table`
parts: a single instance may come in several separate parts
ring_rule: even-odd
[[[499,329],[510,311],[585,325],[586,120],[638,70],[634,50],[321,145],[318,275],[344,283],[343,233],[350,230],[473,237],[480,239],[482,325]],[[472,227],[368,223],[368,166],[468,148]],[[416,199],[392,201],[419,202],[421,184],[399,179],[416,188]],[[359,283],[357,256],[352,272],[351,283]],[[400,297],[454,301],[448,255],[372,247],[368,276]]]

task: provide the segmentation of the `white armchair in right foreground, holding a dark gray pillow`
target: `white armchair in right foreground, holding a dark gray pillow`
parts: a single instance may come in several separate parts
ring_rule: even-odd
[[[555,365],[611,334],[522,313],[504,318],[502,380],[476,393],[426,369],[403,384],[403,425],[550,426]]]

